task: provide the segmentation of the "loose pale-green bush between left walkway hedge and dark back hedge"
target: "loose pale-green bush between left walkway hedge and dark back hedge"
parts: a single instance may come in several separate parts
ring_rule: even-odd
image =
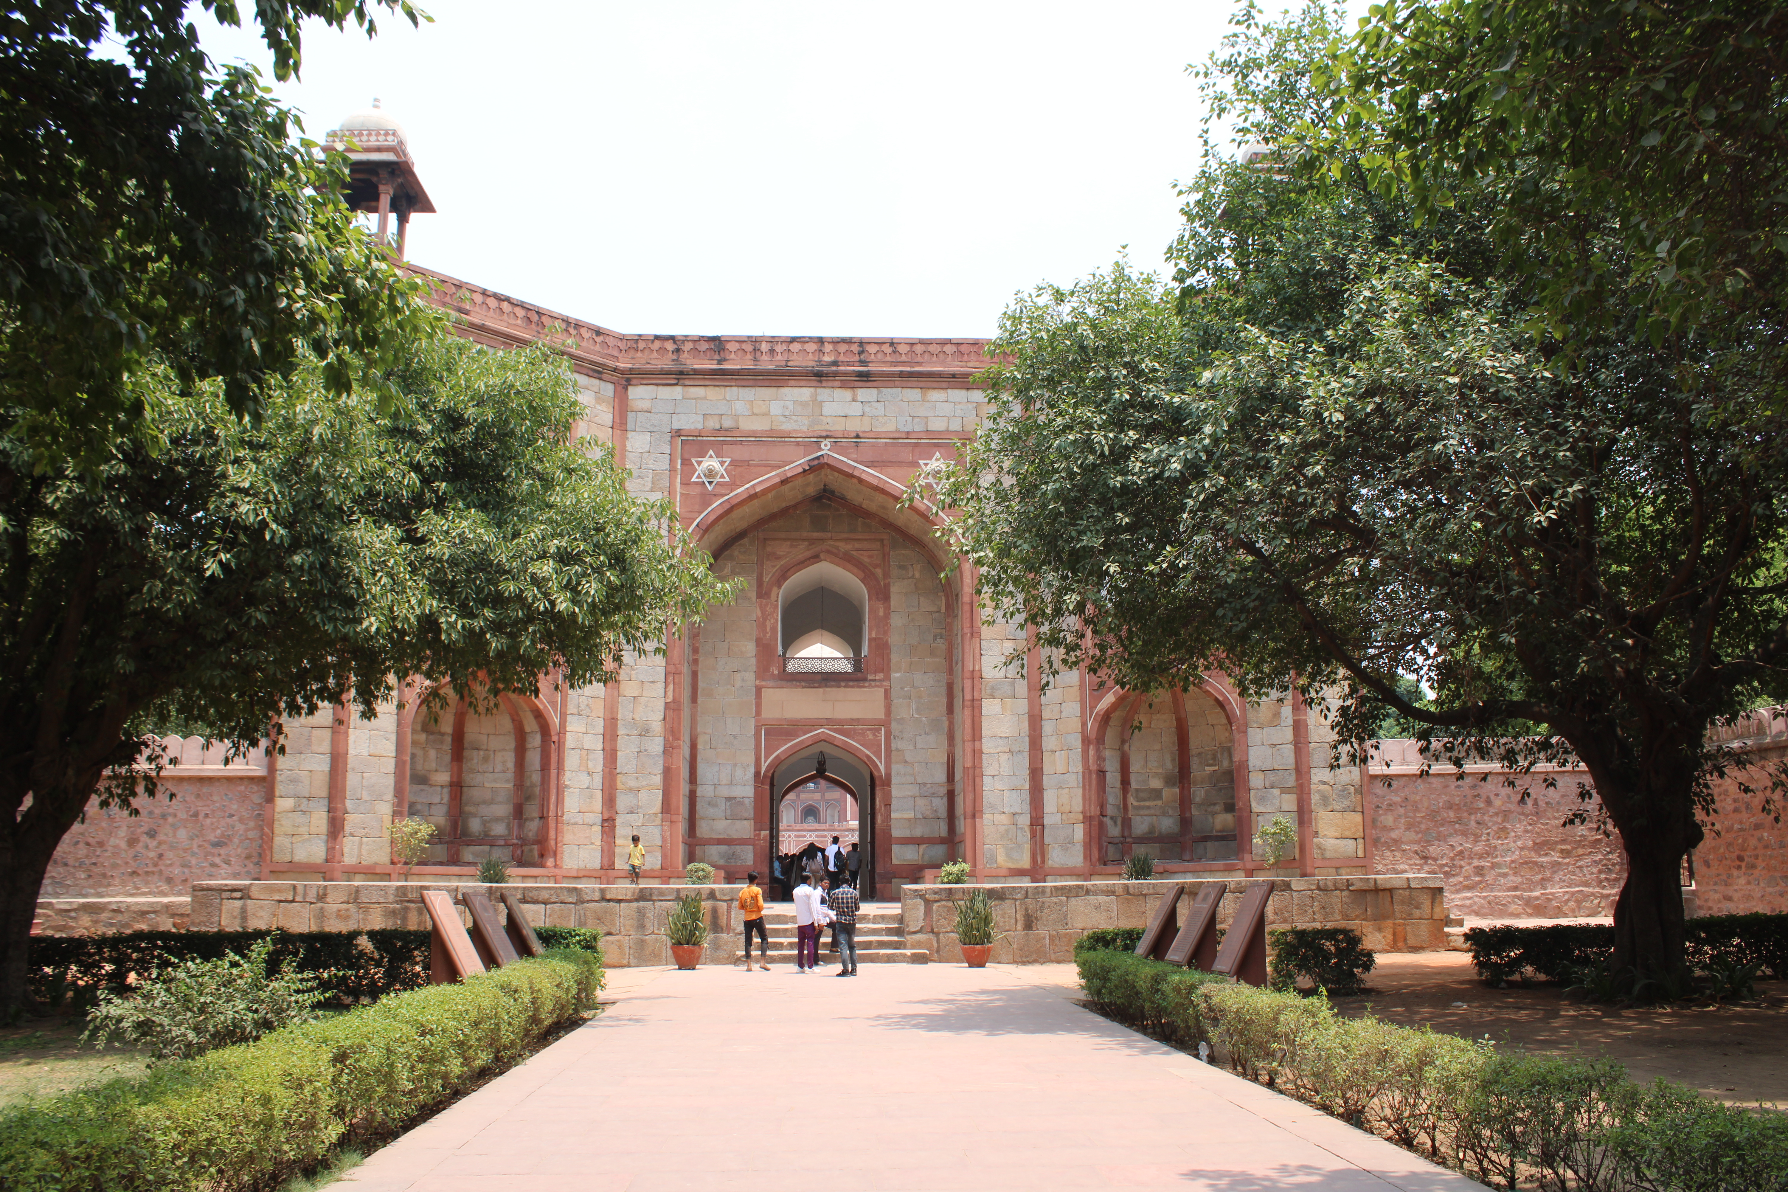
[[[272,956],[265,938],[247,956],[170,961],[129,994],[102,990],[80,1042],[129,1040],[157,1060],[191,1060],[315,1019],[329,997],[318,974],[272,970]]]

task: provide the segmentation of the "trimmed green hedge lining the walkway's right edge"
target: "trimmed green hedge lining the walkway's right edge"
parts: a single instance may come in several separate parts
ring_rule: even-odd
[[[1498,1054],[1488,1040],[1339,1017],[1327,997],[1232,985],[1085,951],[1092,1003],[1498,1188],[1784,1192],[1788,1117],[1681,1085],[1636,1085],[1609,1060]]]

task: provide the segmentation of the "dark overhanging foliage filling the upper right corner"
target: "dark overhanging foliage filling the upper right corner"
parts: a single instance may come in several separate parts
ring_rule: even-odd
[[[1318,82],[1305,170],[1361,173],[1416,222],[1498,197],[1534,325],[1725,343],[1784,379],[1781,11],[1731,0],[1375,7]],[[1754,334],[1772,327],[1777,334]]]

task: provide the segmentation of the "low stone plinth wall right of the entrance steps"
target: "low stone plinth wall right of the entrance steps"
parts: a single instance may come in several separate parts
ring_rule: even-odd
[[[1096,928],[1146,928],[1169,881],[1087,881],[1010,886],[907,886],[901,915],[907,947],[923,947],[932,960],[960,961],[957,904],[971,890],[985,890],[994,904],[994,961],[1071,961],[1075,940]],[[1185,881],[1180,922],[1203,883]],[[1218,926],[1227,928],[1246,881],[1223,881]],[[1395,877],[1278,877],[1266,904],[1271,928],[1352,928],[1366,947],[1380,953],[1427,953],[1446,947],[1446,892],[1438,876]]]

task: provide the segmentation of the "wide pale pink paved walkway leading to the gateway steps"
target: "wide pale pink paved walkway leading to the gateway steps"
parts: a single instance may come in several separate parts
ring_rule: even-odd
[[[1066,972],[1064,972],[1066,970]],[[1482,1192],[1069,1001],[1071,969],[617,970],[343,1192]]]

